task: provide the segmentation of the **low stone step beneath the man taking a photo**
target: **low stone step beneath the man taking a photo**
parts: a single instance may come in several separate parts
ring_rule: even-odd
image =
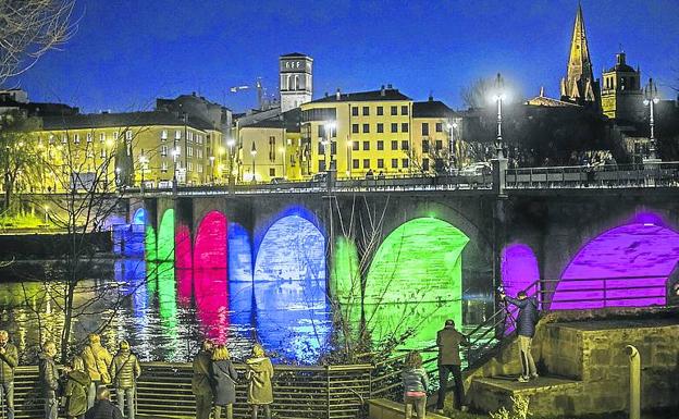
[[[511,409],[511,397],[530,399],[533,415],[559,415],[570,411],[572,397],[582,392],[583,383],[563,377],[539,377],[528,383],[517,381],[517,375],[477,378],[471,382],[467,402],[482,411],[496,411],[501,407]]]

